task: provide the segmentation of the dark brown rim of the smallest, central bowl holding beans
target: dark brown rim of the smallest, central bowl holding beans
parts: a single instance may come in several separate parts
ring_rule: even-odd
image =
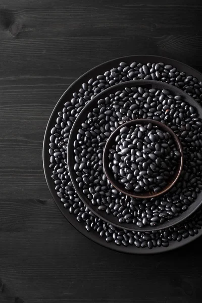
[[[176,167],[175,170],[175,174],[172,176],[170,182],[165,186],[165,188],[163,188],[161,191],[159,192],[154,192],[154,191],[144,191],[144,192],[140,192],[140,193],[134,193],[133,190],[127,190],[124,186],[124,184],[119,183],[118,181],[115,180],[114,178],[114,174],[113,171],[109,168],[109,150],[112,147],[112,145],[115,142],[115,138],[116,136],[120,133],[120,129],[124,126],[130,127],[130,126],[135,126],[136,124],[148,124],[151,123],[153,125],[158,126],[160,129],[162,129],[165,132],[168,132],[172,139],[175,142],[175,145],[177,147],[177,150],[180,153],[180,160],[178,162],[178,165]],[[113,131],[113,133],[111,134],[111,136],[108,138],[105,148],[104,148],[104,153],[103,153],[103,167],[105,170],[105,174],[108,178],[108,180],[110,181],[110,183],[119,191],[121,191],[122,193],[129,195],[133,198],[140,198],[140,199],[146,199],[146,198],[154,198],[157,197],[161,194],[166,193],[168,190],[171,189],[171,187],[177,182],[181,171],[182,171],[182,167],[183,167],[183,149],[182,149],[182,145],[180,143],[180,140],[178,138],[178,136],[174,133],[174,131],[172,131],[172,129],[170,127],[168,127],[167,125],[156,121],[156,120],[151,120],[151,119],[135,119],[135,120],[130,120],[126,123],[121,124],[115,131]]]

